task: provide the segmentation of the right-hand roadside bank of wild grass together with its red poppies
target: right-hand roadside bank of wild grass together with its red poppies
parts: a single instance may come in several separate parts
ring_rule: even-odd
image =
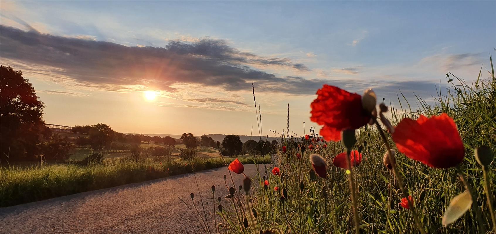
[[[238,162],[231,164],[230,171],[226,170],[228,177],[224,178],[226,187],[212,188],[210,202],[215,203],[214,209],[198,215],[199,232],[496,233],[494,74],[491,60],[491,67],[481,68],[474,83],[467,84],[453,74],[446,74],[448,87],[439,88],[438,94],[433,95],[434,101],[406,100],[399,94],[398,101],[389,103],[388,108],[386,103],[377,108],[380,123],[372,121],[370,125],[369,118],[375,117],[366,116],[366,121],[352,127],[356,131],[343,132],[343,143],[335,141],[341,135],[329,136],[332,130],[320,132],[333,138],[324,140],[314,129],[304,137],[288,135],[288,127],[286,133],[280,134],[282,143],[273,162],[275,167],[261,170],[258,175],[246,178],[243,185],[237,185],[229,175],[243,173],[243,168]],[[339,92],[322,98],[347,93],[332,89]],[[361,109],[366,108],[365,101],[358,102],[356,109],[339,106],[343,100],[346,99],[327,102],[338,103],[329,104],[328,109],[319,109],[313,103],[312,108],[313,111],[351,108],[349,113],[355,116],[362,115]],[[377,99],[377,104],[381,101]],[[316,113],[312,112],[313,121],[322,116]],[[347,119],[343,118],[346,113],[341,116],[336,113],[343,112],[327,114],[334,115],[332,121]],[[436,124],[406,131],[405,121],[414,123],[424,118],[421,115]],[[433,116],[437,117],[431,119]],[[349,122],[363,121],[360,117],[353,118]],[[456,126],[449,124],[451,119]],[[386,154],[388,147],[395,153]],[[412,156],[413,149],[424,153],[418,153],[413,160],[416,155]],[[200,201],[191,196],[185,203],[194,202]],[[208,216],[212,214],[217,215],[216,223]]]

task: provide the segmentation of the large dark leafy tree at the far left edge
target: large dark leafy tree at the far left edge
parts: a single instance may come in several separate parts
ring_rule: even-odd
[[[22,71],[0,65],[0,158],[33,160],[51,131],[42,119],[43,102]]]

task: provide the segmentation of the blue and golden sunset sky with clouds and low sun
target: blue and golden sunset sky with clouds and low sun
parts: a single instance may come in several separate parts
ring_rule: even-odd
[[[496,1],[1,1],[0,62],[46,123],[142,134],[302,136],[323,84],[397,103],[471,83]],[[490,66],[490,65],[489,65]],[[148,94],[148,95],[146,95]],[[148,96],[148,98],[147,98]],[[305,122],[305,127],[303,125]]]

